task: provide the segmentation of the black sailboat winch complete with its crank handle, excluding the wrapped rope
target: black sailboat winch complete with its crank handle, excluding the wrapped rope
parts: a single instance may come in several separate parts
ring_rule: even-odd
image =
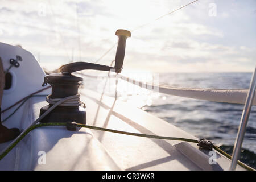
[[[76,76],[73,72],[81,71],[84,69],[93,69],[101,71],[112,71],[115,73],[121,73],[123,60],[125,57],[125,44],[126,39],[131,36],[131,32],[127,30],[119,29],[115,32],[115,35],[118,36],[118,46],[117,52],[115,55],[115,66],[109,67],[107,65],[95,64],[95,63],[86,63],[86,62],[74,62],[65,64],[60,68],[61,73],[52,73],[44,77],[44,82],[42,86],[50,84],[52,86],[51,99],[57,100],[60,98],[65,98],[69,96],[78,95],[78,88],[82,85],[84,78]],[[47,100],[46,100],[47,101]],[[48,102],[48,101],[47,101]],[[80,102],[82,105],[82,102]],[[77,123],[86,124],[86,110],[85,105],[76,106],[57,106],[51,113],[49,113],[45,118],[42,119],[43,123],[46,122],[69,122],[75,121]],[[45,113],[52,103],[49,102],[49,105],[44,106],[40,109],[40,115]]]

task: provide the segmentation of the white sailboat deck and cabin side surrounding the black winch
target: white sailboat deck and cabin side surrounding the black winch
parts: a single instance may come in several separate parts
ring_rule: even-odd
[[[18,50],[19,49],[19,50]],[[18,50],[18,51],[17,51]],[[13,52],[14,51],[14,52]],[[16,51],[16,52],[15,52]],[[0,43],[5,69],[16,54],[23,57],[22,66],[13,69],[16,86],[4,94],[2,108],[42,89],[44,72],[27,51]],[[5,55],[5,56],[2,56]],[[28,68],[26,65],[31,65]],[[30,76],[28,76],[30,75]],[[51,89],[40,94],[50,94]],[[193,135],[125,102],[81,88],[80,100],[86,104],[87,125],[167,137],[197,139]],[[39,117],[44,97],[32,97],[3,125],[26,129]],[[7,117],[17,106],[2,114]],[[3,150],[10,142],[0,144]],[[150,139],[91,129],[68,131],[64,126],[46,126],[32,130],[0,160],[1,170],[227,170],[230,160],[211,155],[195,143]],[[243,170],[237,166],[237,170]]]

